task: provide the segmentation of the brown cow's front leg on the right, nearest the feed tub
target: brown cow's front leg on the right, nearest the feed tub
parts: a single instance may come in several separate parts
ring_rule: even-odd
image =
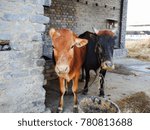
[[[78,79],[79,75],[76,76],[73,79],[73,86],[72,86],[72,92],[74,94],[74,106],[73,106],[73,112],[77,113],[78,112],[78,97],[77,97],[77,92],[78,92]]]

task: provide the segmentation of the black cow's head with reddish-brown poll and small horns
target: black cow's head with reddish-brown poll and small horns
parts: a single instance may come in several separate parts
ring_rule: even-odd
[[[96,31],[98,57],[101,59],[101,67],[105,70],[114,69],[113,50],[115,45],[115,33],[110,30]]]

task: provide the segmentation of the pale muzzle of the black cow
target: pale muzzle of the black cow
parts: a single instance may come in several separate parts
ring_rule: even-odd
[[[115,65],[111,61],[105,61],[101,64],[102,69],[104,70],[113,70]]]

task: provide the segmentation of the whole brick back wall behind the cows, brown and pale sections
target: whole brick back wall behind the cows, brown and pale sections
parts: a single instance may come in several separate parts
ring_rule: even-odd
[[[51,19],[47,30],[50,27],[70,28],[81,34],[87,30],[92,31],[93,26],[105,29],[107,18],[119,22],[120,2],[121,0],[52,0],[52,5],[45,7],[44,12]]]

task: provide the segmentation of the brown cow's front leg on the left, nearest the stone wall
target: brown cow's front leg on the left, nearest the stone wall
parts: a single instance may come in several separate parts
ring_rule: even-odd
[[[59,78],[59,87],[60,87],[60,99],[59,99],[59,106],[57,109],[58,113],[63,111],[63,104],[64,104],[64,94],[65,94],[65,80],[63,78]]]

